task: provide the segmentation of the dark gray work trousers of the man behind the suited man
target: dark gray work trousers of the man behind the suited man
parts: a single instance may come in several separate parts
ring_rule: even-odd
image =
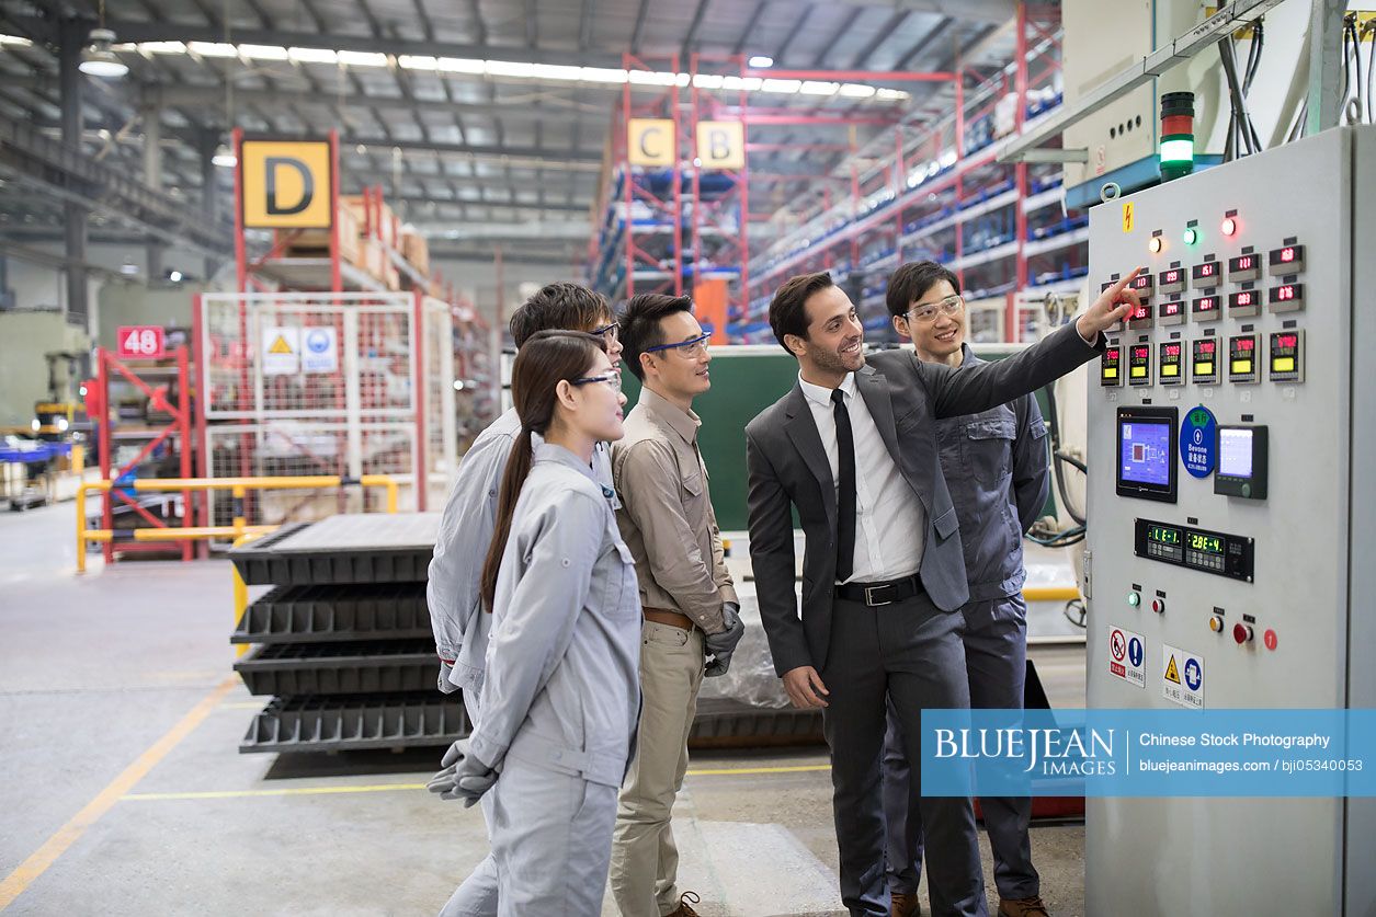
[[[1021,595],[965,606],[965,663],[970,678],[970,707],[1020,709],[1026,675],[1026,604]],[[916,786],[890,707],[883,748],[883,810],[889,837],[889,887],[912,894],[922,876],[922,811]],[[1029,796],[980,797],[984,826],[993,851],[993,883],[1000,898],[1042,894],[1032,866]]]

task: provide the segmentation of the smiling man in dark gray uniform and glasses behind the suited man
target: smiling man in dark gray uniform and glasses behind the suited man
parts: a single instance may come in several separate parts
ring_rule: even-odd
[[[899,268],[886,294],[893,327],[912,338],[918,359],[963,368],[982,363],[965,342],[960,280],[934,261]],[[960,520],[970,601],[965,615],[965,660],[970,707],[1021,708],[1026,671],[1026,605],[1022,601],[1022,533],[1032,527],[1050,488],[1046,423],[1032,395],[980,414],[937,421],[941,470]],[[890,704],[883,751],[889,888],[894,917],[921,913],[922,813]],[[999,914],[1047,914],[1032,866],[1031,797],[981,797],[993,851]]]

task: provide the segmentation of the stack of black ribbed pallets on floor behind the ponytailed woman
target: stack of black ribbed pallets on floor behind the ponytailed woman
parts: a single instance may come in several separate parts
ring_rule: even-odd
[[[241,752],[447,745],[468,733],[438,671],[425,568],[438,513],[336,516],[230,553],[249,586],[272,586],[231,638],[249,692],[272,701]]]

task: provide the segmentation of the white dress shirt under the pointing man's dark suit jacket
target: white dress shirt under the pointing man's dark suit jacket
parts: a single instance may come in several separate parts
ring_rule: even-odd
[[[801,375],[798,385],[812,408],[812,421],[817,425],[821,445],[827,450],[831,483],[839,488],[841,467],[831,389],[813,385]],[[856,374],[848,373],[839,389],[846,400],[850,434],[856,444],[856,555],[850,579],[843,582],[882,583],[912,576],[922,565],[926,511],[879,437],[870,407],[856,388]]]

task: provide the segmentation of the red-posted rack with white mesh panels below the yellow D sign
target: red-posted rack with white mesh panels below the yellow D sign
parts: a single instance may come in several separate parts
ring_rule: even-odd
[[[237,150],[242,139],[235,131]],[[332,175],[338,176],[333,131],[329,147]],[[241,169],[234,175],[237,199]],[[338,184],[337,177],[330,181],[329,230],[277,231],[259,257],[249,257],[242,208],[235,208],[238,291],[198,296],[195,302],[195,366],[206,390],[195,414],[198,473],[389,473],[414,484],[413,503],[424,510],[431,491],[447,489],[458,465],[454,381],[462,378],[471,389],[465,407],[486,411],[479,419],[495,414],[491,334],[472,302],[438,272],[422,269],[428,268],[422,252],[409,258],[398,247],[400,220],[385,206],[380,187],[363,188],[361,206],[341,208]],[[303,368],[290,381],[266,373],[257,334],[272,323],[332,331],[338,370]],[[411,426],[407,459],[394,444],[400,403]],[[274,454],[260,454],[268,440]],[[275,454],[283,450],[289,455]],[[310,506],[314,499],[300,495],[299,506],[275,506],[274,516],[286,516],[271,521],[318,511]],[[245,510],[261,521],[260,503],[252,498]],[[209,525],[228,506],[205,500],[200,511]]]

